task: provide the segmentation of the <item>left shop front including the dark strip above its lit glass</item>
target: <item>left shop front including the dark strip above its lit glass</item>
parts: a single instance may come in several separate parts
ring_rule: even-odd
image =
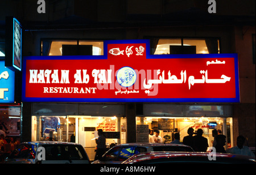
[[[103,116],[97,116],[96,111]],[[96,148],[94,139],[97,136],[95,131],[98,129],[104,131],[106,144],[109,147],[113,143],[126,143],[126,117],[124,117],[123,105],[40,103],[33,104],[33,113],[32,141],[52,138],[56,141],[79,143],[84,146],[91,160],[94,159]],[[59,113],[66,115],[58,115]],[[84,113],[94,116],[85,116]],[[116,116],[113,116],[114,113]]]

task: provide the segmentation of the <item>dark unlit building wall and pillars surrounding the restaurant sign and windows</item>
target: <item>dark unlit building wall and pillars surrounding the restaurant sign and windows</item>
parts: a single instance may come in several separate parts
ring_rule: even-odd
[[[5,40],[5,16],[11,15],[23,24],[23,56],[39,56],[41,39],[44,38],[220,37],[221,53],[238,53],[239,59],[241,103],[233,104],[234,139],[242,134],[255,145],[255,63],[251,40],[251,34],[255,34],[254,0],[216,0],[217,14],[211,15],[205,0],[45,2],[46,13],[39,14],[35,0],[0,1],[0,41]],[[29,140],[31,112],[28,110],[31,110],[31,104],[23,107],[22,128],[27,130],[22,135]],[[127,119],[130,122],[136,116],[136,110],[128,107],[129,104]],[[130,125],[127,130],[134,134],[134,122]],[[133,140],[131,135],[130,141]]]

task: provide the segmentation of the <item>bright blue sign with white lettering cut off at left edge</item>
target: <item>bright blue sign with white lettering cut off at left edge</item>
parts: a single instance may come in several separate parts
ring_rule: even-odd
[[[14,103],[14,71],[0,61],[0,103]]]

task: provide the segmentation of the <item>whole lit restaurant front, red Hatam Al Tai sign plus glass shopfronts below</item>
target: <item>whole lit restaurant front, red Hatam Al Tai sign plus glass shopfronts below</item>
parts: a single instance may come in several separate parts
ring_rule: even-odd
[[[97,56],[24,57],[32,140],[80,143],[90,159],[97,129],[111,144],[148,142],[148,129],[163,138],[179,132],[182,141],[189,127],[201,128],[210,145],[214,127],[233,145],[226,103],[240,101],[237,54],[152,55],[150,40],[104,41],[103,48]]]

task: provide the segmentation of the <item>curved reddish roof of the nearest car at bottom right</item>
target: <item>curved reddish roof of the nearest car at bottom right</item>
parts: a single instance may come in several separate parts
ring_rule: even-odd
[[[139,163],[140,161],[161,159],[161,158],[178,158],[178,157],[208,157],[209,152],[143,152],[137,155],[131,156],[123,164]],[[255,163],[255,157],[235,155],[231,153],[215,153],[216,157],[222,157],[227,159],[240,159],[247,160]]]

